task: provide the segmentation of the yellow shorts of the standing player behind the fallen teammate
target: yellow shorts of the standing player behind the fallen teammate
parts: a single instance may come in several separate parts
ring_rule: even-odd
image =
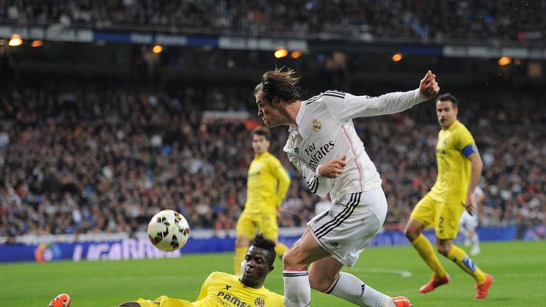
[[[250,215],[242,211],[239,220],[237,220],[237,236],[245,236],[252,239],[257,235],[258,230],[267,239],[279,239],[279,225],[277,225],[277,214],[270,215]]]

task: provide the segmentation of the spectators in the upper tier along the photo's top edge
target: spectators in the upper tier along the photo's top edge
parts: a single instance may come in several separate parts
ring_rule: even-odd
[[[423,41],[546,36],[546,1],[1,0],[0,21],[262,36],[346,36]],[[443,12],[443,14],[442,14]],[[333,36],[331,36],[333,37]]]

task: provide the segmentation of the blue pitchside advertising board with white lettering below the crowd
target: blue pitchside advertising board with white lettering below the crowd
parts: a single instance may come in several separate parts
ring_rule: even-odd
[[[279,241],[291,246],[303,233],[304,228],[279,230]],[[499,240],[536,240],[546,238],[546,226],[536,227],[488,227],[478,228],[482,241]],[[434,242],[434,232],[426,230],[424,235]],[[461,242],[457,237],[455,242]],[[235,232],[193,231],[192,237],[182,248],[174,252],[162,252],[156,249],[148,237],[124,238],[101,242],[43,242],[37,244],[0,244],[0,262],[52,262],[58,260],[102,261],[145,258],[175,258],[181,254],[205,252],[232,252],[235,244]],[[370,247],[407,245],[409,242],[399,230],[387,230],[379,233],[370,243]]]

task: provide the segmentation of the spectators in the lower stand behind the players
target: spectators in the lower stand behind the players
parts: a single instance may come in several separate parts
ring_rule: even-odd
[[[144,230],[167,208],[182,212],[193,229],[233,229],[245,203],[250,129],[259,124],[248,88],[182,85],[172,94],[68,81],[3,88],[0,236]],[[481,225],[545,225],[540,97],[466,92],[459,119],[484,161]],[[247,109],[251,116],[208,121],[205,109]],[[398,227],[434,183],[434,107],[358,119],[356,126],[382,177],[387,226]],[[271,151],[292,177],[279,224],[301,226],[320,199],[282,152],[287,131],[273,135]]]

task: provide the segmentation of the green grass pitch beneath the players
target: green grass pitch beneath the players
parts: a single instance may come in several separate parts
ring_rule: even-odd
[[[366,284],[390,296],[408,296],[414,306],[545,306],[546,242],[483,243],[472,257],[495,277],[486,300],[476,301],[474,281],[455,264],[441,257],[451,283],[421,294],[419,286],[430,273],[412,247],[373,247],[347,269]],[[282,265],[269,275],[266,286],[282,293]],[[178,259],[117,262],[48,262],[0,264],[2,306],[45,307],[58,293],[70,293],[73,307],[114,306],[133,299],[168,295],[193,301],[211,271],[232,270],[232,253],[193,254]],[[404,277],[396,270],[411,274]],[[407,274],[407,273],[406,273]],[[311,306],[352,306],[312,291]]]

